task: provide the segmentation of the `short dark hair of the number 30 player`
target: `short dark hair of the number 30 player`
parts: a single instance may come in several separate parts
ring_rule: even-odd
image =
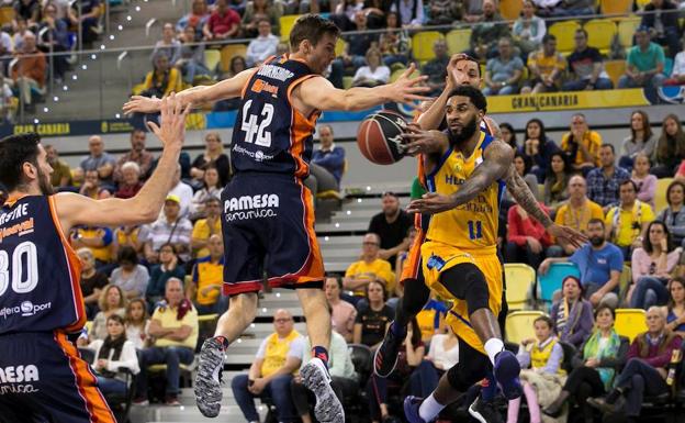
[[[41,135],[35,132],[5,136],[0,140],[0,183],[14,191],[23,183],[24,163],[38,167]]]

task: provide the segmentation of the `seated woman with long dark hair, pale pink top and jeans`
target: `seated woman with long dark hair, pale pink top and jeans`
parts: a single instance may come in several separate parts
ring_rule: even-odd
[[[642,247],[632,252],[632,283],[630,297],[632,309],[648,310],[652,305],[666,305],[667,285],[671,272],[681,260],[683,248],[674,248],[669,229],[661,221],[652,221],[647,226]]]

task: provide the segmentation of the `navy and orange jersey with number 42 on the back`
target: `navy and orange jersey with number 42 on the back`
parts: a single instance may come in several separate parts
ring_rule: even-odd
[[[243,89],[231,146],[236,171],[310,174],[313,134],[319,111],[305,116],[291,101],[292,90],[317,75],[288,55],[259,66]]]

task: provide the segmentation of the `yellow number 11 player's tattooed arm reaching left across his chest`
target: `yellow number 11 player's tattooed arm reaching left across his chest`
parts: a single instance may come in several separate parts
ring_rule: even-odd
[[[479,165],[459,191],[451,196],[428,192],[414,200],[407,208],[412,213],[435,214],[454,209],[473,200],[497,179],[504,178],[514,160],[514,151],[499,140],[493,141],[483,153],[483,163]]]

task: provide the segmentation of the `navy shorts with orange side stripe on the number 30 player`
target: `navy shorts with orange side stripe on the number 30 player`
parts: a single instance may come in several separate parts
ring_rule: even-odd
[[[116,423],[64,333],[1,335],[0,345],[0,422]]]

